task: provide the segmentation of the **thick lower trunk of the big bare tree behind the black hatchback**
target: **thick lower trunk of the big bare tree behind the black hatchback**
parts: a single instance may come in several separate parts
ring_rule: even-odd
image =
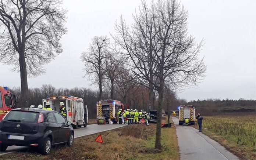
[[[28,76],[26,70],[25,51],[19,54],[19,70],[21,75],[21,104],[22,107],[29,107]]]

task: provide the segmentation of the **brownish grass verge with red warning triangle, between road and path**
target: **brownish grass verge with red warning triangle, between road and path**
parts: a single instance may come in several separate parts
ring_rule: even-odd
[[[165,121],[166,118],[163,120]],[[133,124],[111,131],[76,138],[73,146],[56,146],[47,156],[30,150],[29,152],[22,151],[15,154],[6,154],[0,156],[0,159],[178,160],[179,153],[175,127],[162,128],[161,131],[162,150],[154,149],[156,124],[151,123],[150,126]],[[95,142],[95,139],[100,134],[103,139],[102,144]]]

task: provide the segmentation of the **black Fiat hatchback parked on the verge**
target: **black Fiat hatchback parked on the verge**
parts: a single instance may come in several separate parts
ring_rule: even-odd
[[[71,122],[54,110],[17,108],[0,122],[0,150],[8,146],[34,146],[42,154],[49,154],[52,145],[74,143]]]

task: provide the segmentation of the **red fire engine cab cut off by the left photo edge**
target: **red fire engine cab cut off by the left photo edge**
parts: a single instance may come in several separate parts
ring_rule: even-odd
[[[0,121],[8,111],[16,106],[16,96],[8,91],[8,87],[0,87]]]

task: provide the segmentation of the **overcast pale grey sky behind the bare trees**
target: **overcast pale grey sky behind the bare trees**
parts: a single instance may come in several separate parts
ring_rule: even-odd
[[[92,87],[84,79],[82,51],[93,36],[114,33],[122,14],[127,23],[139,0],[64,0],[68,33],[61,43],[63,53],[46,65],[46,74],[28,80],[29,87]],[[205,39],[205,80],[196,88],[179,93],[187,100],[256,99],[256,0],[181,0],[189,13],[189,34]],[[20,86],[19,73],[0,64],[0,86]]]

